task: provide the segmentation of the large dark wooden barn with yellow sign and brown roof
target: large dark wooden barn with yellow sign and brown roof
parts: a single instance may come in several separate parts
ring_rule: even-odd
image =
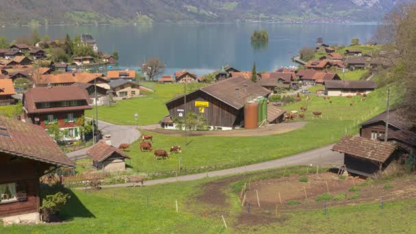
[[[165,104],[171,120],[183,118],[186,112],[194,112],[203,116],[211,129],[226,130],[244,125],[244,106],[248,101],[264,100],[269,94],[269,90],[244,77],[231,77],[186,94],[185,105],[184,95]],[[266,109],[267,102],[262,109],[265,115]],[[258,109],[250,111],[257,116]]]

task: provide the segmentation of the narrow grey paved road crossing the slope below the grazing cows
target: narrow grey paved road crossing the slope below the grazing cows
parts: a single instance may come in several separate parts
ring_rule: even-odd
[[[237,174],[242,172],[252,172],[256,170],[265,170],[272,168],[279,168],[282,166],[294,165],[310,165],[313,167],[320,166],[341,166],[343,164],[343,155],[341,153],[330,151],[333,145],[316,148],[311,151],[291,155],[283,159],[274,159],[272,161],[265,161],[259,164],[252,164],[248,166],[241,166],[238,168],[229,168],[224,170],[216,170],[212,172],[205,172],[199,174],[188,174],[180,177],[170,177],[164,179],[155,179],[152,181],[144,181],[144,185],[156,185],[159,183],[171,183],[176,181],[195,181],[205,177],[220,177],[230,174]],[[103,185],[101,187],[128,187],[131,183],[121,183],[116,185]],[[82,189],[82,188],[78,188]]]

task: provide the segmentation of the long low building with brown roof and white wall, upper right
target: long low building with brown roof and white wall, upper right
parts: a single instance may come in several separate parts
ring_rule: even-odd
[[[354,96],[369,94],[377,88],[374,81],[324,81],[325,95]]]

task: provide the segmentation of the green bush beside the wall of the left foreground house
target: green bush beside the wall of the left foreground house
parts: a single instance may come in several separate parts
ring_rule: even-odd
[[[47,195],[47,197],[42,201],[42,206],[40,207],[43,220],[45,222],[53,221],[53,216],[55,216],[57,211],[59,211],[66,204],[66,200],[68,198],[70,198],[70,196],[62,192]]]

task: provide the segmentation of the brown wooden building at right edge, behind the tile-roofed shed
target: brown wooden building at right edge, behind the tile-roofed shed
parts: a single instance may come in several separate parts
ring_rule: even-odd
[[[360,124],[360,135],[363,138],[368,139],[377,139],[381,135],[385,134],[386,131],[386,121],[387,121],[387,112],[383,112],[378,116],[374,116],[369,120],[362,122]],[[389,112],[389,125],[387,137],[395,131],[404,131],[410,130],[412,125],[409,122],[406,122],[398,111]]]

